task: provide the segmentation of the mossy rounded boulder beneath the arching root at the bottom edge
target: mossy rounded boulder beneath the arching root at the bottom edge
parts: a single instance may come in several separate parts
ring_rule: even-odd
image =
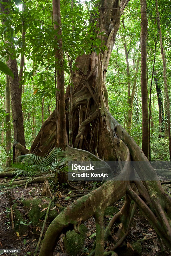
[[[77,256],[82,252],[87,231],[88,229],[82,224],[79,226],[79,234],[74,230],[66,232],[64,246],[70,256]]]

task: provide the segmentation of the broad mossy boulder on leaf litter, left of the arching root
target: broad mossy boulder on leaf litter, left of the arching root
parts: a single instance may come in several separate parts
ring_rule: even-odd
[[[22,200],[21,203],[24,207],[27,207],[29,221],[32,221],[33,226],[41,225],[41,220],[44,220],[46,211],[42,211],[49,205],[50,199],[48,197],[35,197],[34,199]],[[51,203],[51,209],[54,208],[54,202]],[[51,222],[58,215],[55,209],[50,210],[48,214],[48,220]]]

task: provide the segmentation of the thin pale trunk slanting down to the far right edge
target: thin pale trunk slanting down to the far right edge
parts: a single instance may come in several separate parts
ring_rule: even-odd
[[[159,18],[157,0],[156,0],[156,11],[157,11],[157,21],[158,21],[159,37],[160,37],[160,47],[161,47],[161,54],[162,54],[162,60],[163,60],[164,96],[165,96],[166,113],[167,113],[167,119],[165,116],[165,122],[167,122],[167,127],[168,127],[169,155],[170,155],[170,161],[171,161],[170,100],[169,100],[167,77],[166,77],[166,53],[165,53],[165,49],[164,49],[163,42],[162,42],[162,31],[161,31],[161,26],[160,26],[160,18]]]

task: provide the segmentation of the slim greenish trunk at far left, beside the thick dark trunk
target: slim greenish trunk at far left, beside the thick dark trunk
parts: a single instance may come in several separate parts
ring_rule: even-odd
[[[5,125],[6,125],[6,151],[9,158],[6,158],[6,167],[11,164],[11,110],[10,110],[10,89],[9,89],[9,79],[8,75],[5,77],[6,86],[5,86]]]

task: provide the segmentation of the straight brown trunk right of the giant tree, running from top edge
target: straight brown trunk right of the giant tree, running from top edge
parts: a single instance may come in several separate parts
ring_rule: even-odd
[[[142,98],[142,151],[149,158],[149,116],[147,92],[147,15],[146,1],[141,0],[141,98]]]

